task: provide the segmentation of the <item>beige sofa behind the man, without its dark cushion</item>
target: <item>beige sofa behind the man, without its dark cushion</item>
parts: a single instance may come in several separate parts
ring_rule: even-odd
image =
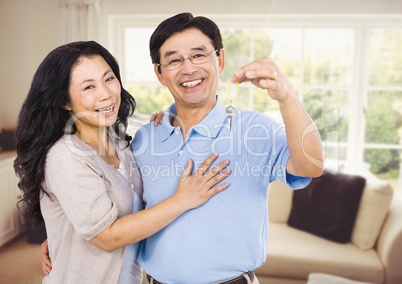
[[[401,194],[371,175],[359,175],[366,178],[366,185],[351,241],[345,244],[288,226],[292,191],[281,182],[270,185],[268,255],[256,270],[261,284],[305,284],[316,273],[368,283],[402,283]]]

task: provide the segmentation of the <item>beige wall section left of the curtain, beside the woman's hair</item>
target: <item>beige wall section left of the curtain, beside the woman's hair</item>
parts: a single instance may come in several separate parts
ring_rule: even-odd
[[[58,44],[54,0],[0,0],[0,127],[14,126],[33,74]]]

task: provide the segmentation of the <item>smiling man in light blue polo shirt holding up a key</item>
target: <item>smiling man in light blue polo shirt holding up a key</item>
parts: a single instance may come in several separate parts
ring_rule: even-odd
[[[231,186],[141,244],[139,264],[150,283],[258,283],[265,262],[267,187],[279,179],[305,187],[323,171],[321,140],[292,84],[269,58],[241,67],[232,82],[251,82],[276,100],[285,127],[250,111],[225,114],[217,94],[224,49],[217,25],[181,13],[150,39],[156,76],[175,103],[162,125],[141,127],[132,149],[147,206],[173,194],[186,161],[213,152],[230,160]]]

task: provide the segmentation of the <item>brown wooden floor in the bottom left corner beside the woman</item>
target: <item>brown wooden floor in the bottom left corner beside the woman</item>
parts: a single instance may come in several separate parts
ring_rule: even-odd
[[[40,284],[43,276],[40,244],[22,235],[0,247],[0,284]]]

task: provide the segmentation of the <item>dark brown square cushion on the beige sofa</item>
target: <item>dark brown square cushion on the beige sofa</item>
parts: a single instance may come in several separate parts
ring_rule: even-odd
[[[338,242],[350,241],[366,185],[361,176],[324,173],[294,190],[288,225]]]

